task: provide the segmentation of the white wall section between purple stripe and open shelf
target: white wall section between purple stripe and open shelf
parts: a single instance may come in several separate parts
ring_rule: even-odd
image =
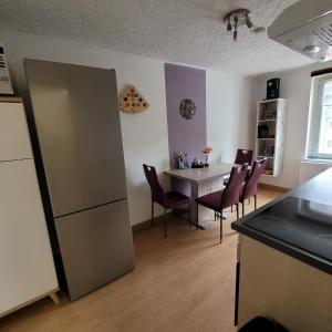
[[[207,143],[211,160],[234,162],[237,148],[253,148],[256,103],[251,80],[207,71]]]

